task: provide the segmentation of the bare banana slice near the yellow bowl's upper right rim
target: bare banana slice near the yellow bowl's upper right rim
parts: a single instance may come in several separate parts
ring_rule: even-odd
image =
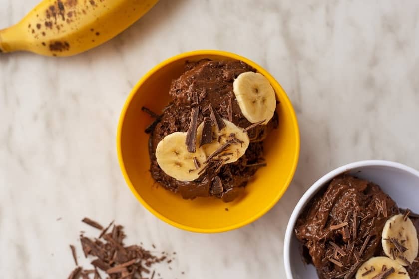
[[[276,108],[275,91],[268,79],[259,73],[245,72],[233,83],[241,113],[251,123],[265,120],[268,123]]]

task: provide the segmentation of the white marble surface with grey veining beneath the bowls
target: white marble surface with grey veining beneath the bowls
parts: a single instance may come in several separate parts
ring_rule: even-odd
[[[0,28],[38,0],[0,0]],[[115,135],[130,89],[175,54],[222,49],[259,63],[288,92],[301,156],[285,196],[239,230],[194,234],[155,218],[119,170]],[[112,41],[71,58],[0,56],[1,278],[66,278],[80,220],[126,226],[127,243],[177,252],[163,278],[284,278],[288,218],[342,164],[419,169],[416,0],[160,0]],[[61,218],[57,220],[58,218]],[[185,272],[185,274],[181,274]]]

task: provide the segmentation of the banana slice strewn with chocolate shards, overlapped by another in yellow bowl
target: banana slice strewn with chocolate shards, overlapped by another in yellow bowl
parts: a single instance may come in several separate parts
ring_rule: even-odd
[[[222,152],[214,156],[215,158],[224,160],[225,164],[229,164],[237,161],[247,150],[249,146],[249,136],[247,132],[236,126],[234,123],[223,119],[225,127],[218,132],[215,126],[212,126],[212,142],[202,145],[205,155],[210,157],[214,152],[218,151],[219,148],[224,146],[227,142],[230,145],[223,149]],[[204,122],[202,122],[197,128],[197,142],[201,142],[203,135]]]

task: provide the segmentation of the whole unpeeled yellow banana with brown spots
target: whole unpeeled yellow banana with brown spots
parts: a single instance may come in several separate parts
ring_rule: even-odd
[[[71,56],[115,37],[158,0],[43,0],[19,23],[0,30],[0,52]]]

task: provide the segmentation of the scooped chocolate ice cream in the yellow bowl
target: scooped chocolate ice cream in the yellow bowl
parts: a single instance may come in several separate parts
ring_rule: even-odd
[[[263,139],[278,125],[276,113],[267,125],[254,125],[241,113],[234,96],[233,81],[239,74],[249,71],[255,72],[255,69],[238,60],[205,59],[186,63],[185,72],[172,81],[169,91],[172,101],[158,117],[155,126],[149,129],[150,171],[155,181],[168,190],[179,192],[185,199],[214,196],[230,202],[240,194],[257,169],[264,165]],[[196,115],[191,114],[193,110]],[[233,163],[209,164],[194,181],[179,181],[167,175],[156,160],[159,142],[174,132],[188,131],[193,122],[199,124],[204,118],[214,119],[214,115],[241,128],[253,125],[247,131],[250,144],[245,154]]]

